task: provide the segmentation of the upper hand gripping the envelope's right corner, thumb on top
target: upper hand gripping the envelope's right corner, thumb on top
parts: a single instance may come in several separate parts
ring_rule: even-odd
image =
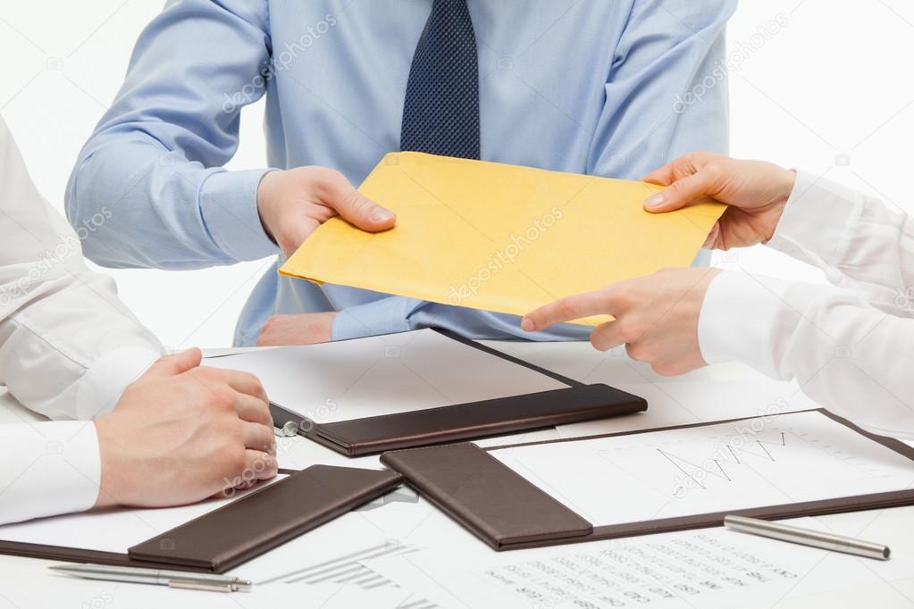
[[[644,176],[668,186],[644,202],[649,212],[669,212],[710,196],[729,205],[705,247],[729,249],[765,243],[778,226],[796,174],[771,163],[691,152]]]

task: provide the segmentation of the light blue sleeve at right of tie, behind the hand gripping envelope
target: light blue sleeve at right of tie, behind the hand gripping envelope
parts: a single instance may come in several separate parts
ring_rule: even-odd
[[[728,152],[726,26],[736,0],[638,0],[616,47],[588,173],[640,179]]]

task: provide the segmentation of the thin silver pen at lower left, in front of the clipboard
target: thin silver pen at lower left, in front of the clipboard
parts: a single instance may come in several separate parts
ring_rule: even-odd
[[[186,590],[208,590],[210,592],[250,592],[253,583],[231,575],[194,573],[182,571],[156,571],[136,567],[106,567],[101,564],[61,564],[49,567],[52,571],[66,573],[88,580],[109,582],[152,583],[184,588]]]

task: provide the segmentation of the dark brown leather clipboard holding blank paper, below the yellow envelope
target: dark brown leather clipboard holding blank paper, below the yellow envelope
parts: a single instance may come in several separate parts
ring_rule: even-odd
[[[535,394],[514,395],[469,404],[453,404],[395,415],[314,423],[281,404],[271,404],[273,425],[287,423],[298,432],[347,457],[372,455],[412,446],[429,446],[486,436],[499,436],[555,425],[567,425],[608,416],[630,415],[647,409],[647,402],[602,383],[579,383],[532,363],[518,360],[465,339],[451,331],[439,330],[454,341],[525,366],[568,385]],[[447,362],[441,362],[447,365]],[[458,372],[459,373],[459,372]],[[473,379],[467,379],[472,383]]]

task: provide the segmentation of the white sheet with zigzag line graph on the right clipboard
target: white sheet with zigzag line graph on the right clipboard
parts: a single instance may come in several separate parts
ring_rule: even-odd
[[[914,461],[819,412],[490,454],[594,524],[914,487]]]

